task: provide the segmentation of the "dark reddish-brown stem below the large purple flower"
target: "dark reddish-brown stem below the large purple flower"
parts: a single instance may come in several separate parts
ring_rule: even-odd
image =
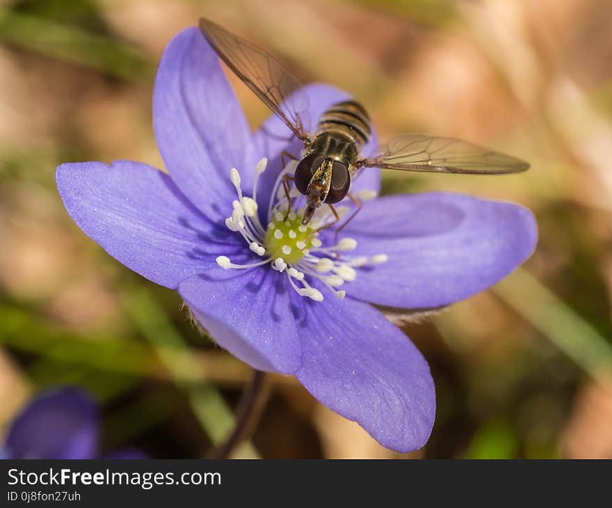
[[[267,399],[266,373],[255,370],[249,383],[244,387],[238,406],[236,407],[236,425],[230,436],[214,448],[209,457],[211,459],[227,459],[242,440],[248,438],[255,430],[261,417],[264,402]]]

